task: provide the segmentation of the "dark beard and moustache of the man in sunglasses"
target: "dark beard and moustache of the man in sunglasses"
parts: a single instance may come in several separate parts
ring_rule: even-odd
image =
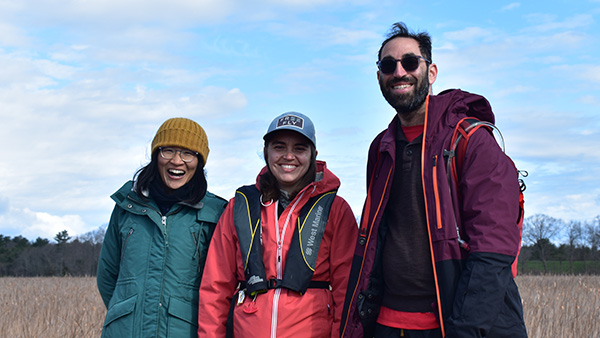
[[[413,84],[415,86],[414,91],[406,94],[393,93],[391,88],[395,83],[399,82]],[[423,74],[418,78],[408,75],[401,78],[393,77],[389,79],[387,83],[380,80],[379,88],[381,89],[381,93],[385,100],[390,106],[396,109],[398,114],[408,116],[425,103],[427,95],[429,95],[429,79]]]

